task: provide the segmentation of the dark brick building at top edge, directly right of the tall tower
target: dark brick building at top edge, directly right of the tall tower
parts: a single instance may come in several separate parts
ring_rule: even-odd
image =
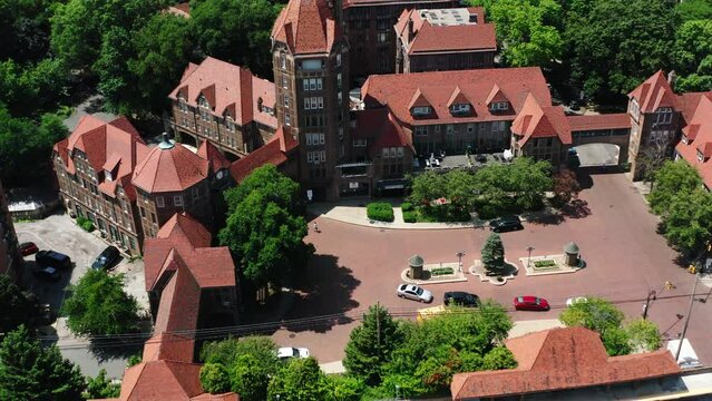
[[[341,8],[338,4],[341,2]],[[396,35],[393,26],[404,10],[460,7],[459,0],[342,0],[345,35],[350,43],[352,78],[396,72]]]

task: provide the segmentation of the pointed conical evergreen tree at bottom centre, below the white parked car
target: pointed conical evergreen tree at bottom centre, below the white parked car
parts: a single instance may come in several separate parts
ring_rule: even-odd
[[[351,331],[343,365],[367,384],[381,382],[381,366],[401,343],[403,334],[398,322],[379,304],[363,314],[363,323]]]

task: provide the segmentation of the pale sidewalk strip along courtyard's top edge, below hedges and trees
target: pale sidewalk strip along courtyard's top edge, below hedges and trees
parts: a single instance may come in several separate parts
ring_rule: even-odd
[[[335,203],[313,203],[308,206],[311,215],[325,217],[341,223],[348,223],[364,227],[382,229],[450,229],[450,228],[480,228],[487,226],[488,221],[474,218],[468,223],[406,223],[403,212],[399,206],[393,206],[394,219],[392,223],[371,221],[367,216],[365,204],[368,199],[347,200]],[[396,204],[396,202],[392,202]],[[531,212],[519,215],[523,222],[536,218],[540,219],[546,215],[552,215],[550,211]],[[528,216],[528,218],[527,218]]]

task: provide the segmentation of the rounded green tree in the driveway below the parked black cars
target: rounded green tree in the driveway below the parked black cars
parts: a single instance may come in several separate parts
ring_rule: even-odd
[[[67,326],[85,335],[138,331],[138,302],[124,292],[124,274],[89,270],[62,305]]]

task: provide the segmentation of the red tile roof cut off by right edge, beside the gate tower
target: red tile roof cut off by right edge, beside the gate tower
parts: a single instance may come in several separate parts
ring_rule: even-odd
[[[712,188],[712,162],[710,155],[705,155],[709,146],[712,145],[712,99],[708,96],[701,96],[698,108],[690,118],[690,124],[682,129],[683,140],[686,137],[686,144],[681,140],[675,150],[687,162],[694,166],[708,188]],[[700,160],[698,151],[701,151],[703,159]]]

